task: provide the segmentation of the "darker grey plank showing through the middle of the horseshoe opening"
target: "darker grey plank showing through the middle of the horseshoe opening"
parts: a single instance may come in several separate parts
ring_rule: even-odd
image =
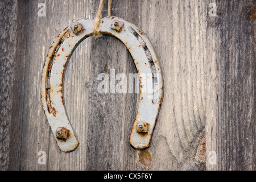
[[[113,2],[112,7],[112,15],[121,14],[122,18],[129,21],[133,21],[138,16],[138,12],[129,11],[138,7],[138,1],[132,3],[116,1]],[[97,3],[94,3],[94,11],[97,8]],[[124,160],[127,156],[130,156],[130,160],[134,158],[129,135],[137,113],[139,96],[138,94],[100,94],[97,91],[100,82],[97,81],[97,76],[100,73],[106,73],[110,77],[110,72],[114,71],[115,75],[125,73],[128,78],[129,73],[137,73],[134,61],[125,45],[111,36],[92,39],[91,47],[86,170],[134,169],[134,163],[127,164]],[[114,82],[117,84],[119,81]]]

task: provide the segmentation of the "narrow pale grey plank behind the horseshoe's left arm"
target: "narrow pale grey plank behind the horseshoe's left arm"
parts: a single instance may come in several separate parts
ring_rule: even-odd
[[[59,13],[52,9],[51,16],[56,16],[55,23],[65,22],[68,26],[75,20],[89,18],[91,5],[89,1],[53,1],[55,8],[64,11],[64,19],[59,20]],[[49,7],[52,7],[49,5]],[[64,27],[60,30],[62,31]],[[86,123],[88,121],[88,86],[89,78],[89,40],[85,40],[77,47],[69,61],[65,73],[64,101],[73,129],[79,138],[80,146],[76,151],[65,154],[56,146],[52,133],[49,135],[49,170],[85,170],[86,159]]]

